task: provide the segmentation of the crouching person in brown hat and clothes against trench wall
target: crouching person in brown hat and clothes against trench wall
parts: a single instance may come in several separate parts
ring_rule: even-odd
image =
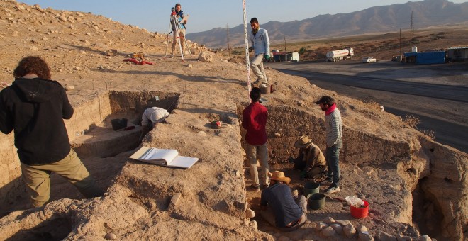
[[[294,169],[302,171],[301,179],[321,181],[322,177],[326,176],[327,164],[320,148],[313,144],[307,135],[302,135],[296,140],[294,147],[299,148],[299,155],[295,159],[289,157],[289,160],[294,162]]]

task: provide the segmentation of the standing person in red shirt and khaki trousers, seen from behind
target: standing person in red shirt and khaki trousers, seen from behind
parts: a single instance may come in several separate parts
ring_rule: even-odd
[[[250,162],[250,176],[254,183],[252,189],[260,191],[260,182],[257,170],[257,154],[260,157],[262,164],[262,188],[267,188],[269,185],[268,180],[268,147],[267,147],[267,118],[268,111],[265,106],[262,106],[258,101],[260,100],[260,88],[252,88],[250,91],[250,99],[252,103],[247,106],[243,111],[242,126],[247,130],[245,134],[245,154]]]

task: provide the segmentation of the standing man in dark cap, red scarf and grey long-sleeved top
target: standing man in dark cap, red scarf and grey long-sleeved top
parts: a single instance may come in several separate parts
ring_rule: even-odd
[[[326,161],[328,164],[328,181],[332,181],[325,193],[340,191],[340,148],[342,147],[341,113],[336,108],[335,100],[330,96],[322,96],[316,101],[322,111],[325,111],[325,140],[327,142]]]

